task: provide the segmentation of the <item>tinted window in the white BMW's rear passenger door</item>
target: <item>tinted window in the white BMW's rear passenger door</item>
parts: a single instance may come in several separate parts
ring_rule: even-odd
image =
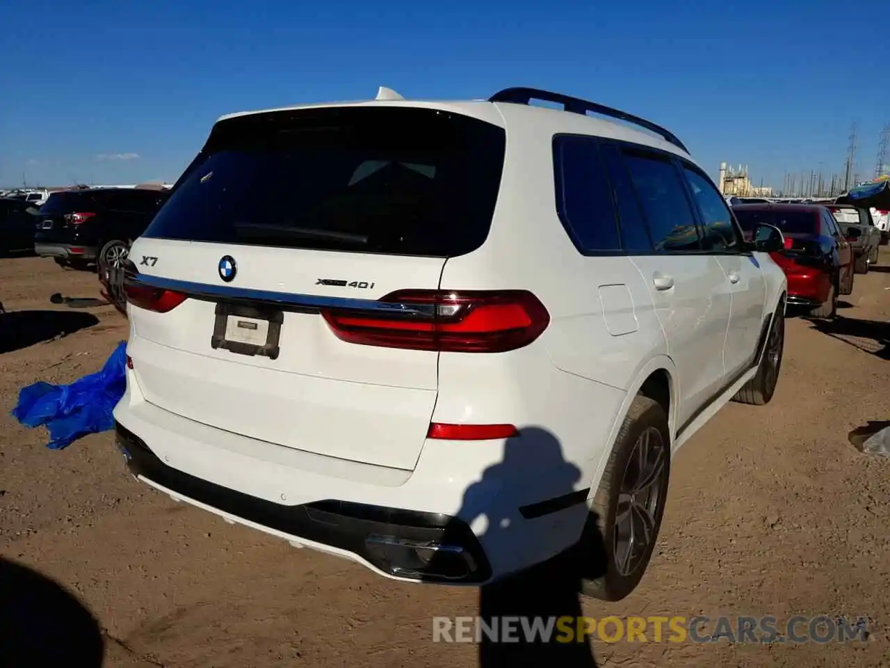
[[[656,156],[626,153],[655,250],[699,250],[699,234],[676,167]]]

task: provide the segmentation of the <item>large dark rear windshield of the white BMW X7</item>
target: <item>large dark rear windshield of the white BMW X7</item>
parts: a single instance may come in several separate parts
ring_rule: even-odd
[[[502,128],[440,110],[221,121],[143,236],[452,257],[489,233]]]

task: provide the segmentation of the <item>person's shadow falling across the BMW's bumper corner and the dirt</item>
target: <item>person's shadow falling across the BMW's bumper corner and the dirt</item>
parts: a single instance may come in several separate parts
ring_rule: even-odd
[[[498,566],[510,570],[511,555],[529,550],[545,558],[538,566],[481,587],[480,622],[498,635],[497,639],[489,633],[476,637],[483,668],[596,665],[589,635],[580,634],[583,637],[578,639],[578,619],[583,615],[579,592],[582,577],[594,579],[603,575],[607,562],[596,517],[588,512],[584,502],[587,493],[576,492],[580,475],[576,466],[563,459],[562,447],[553,434],[543,428],[523,428],[520,437],[506,441],[502,460],[486,468],[482,477],[466,489],[457,517],[467,525],[485,517],[486,526],[479,538],[483,546],[497,546],[498,554],[506,554]],[[513,492],[502,493],[507,489]],[[530,500],[533,507],[515,501],[516,489],[522,489],[522,498]],[[538,504],[568,498],[570,494],[575,501],[570,508],[554,511],[553,506]],[[533,518],[528,519],[530,516]],[[571,535],[579,539],[578,544],[552,556],[552,545],[540,544],[534,534],[523,532],[523,524],[532,523],[550,526],[552,534]],[[433,558],[430,566],[434,569],[435,565]],[[509,617],[524,618],[526,627],[521,621],[513,623],[513,640],[505,641],[502,631],[505,618]],[[562,626],[554,626],[549,639],[534,632],[527,634],[536,619],[546,625],[561,617],[570,617],[570,623],[563,621]],[[564,632],[566,629],[572,633]]]

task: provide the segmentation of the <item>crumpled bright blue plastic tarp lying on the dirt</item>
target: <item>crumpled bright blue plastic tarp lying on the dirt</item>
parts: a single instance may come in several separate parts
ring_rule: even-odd
[[[126,342],[121,341],[101,371],[70,385],[37,382],[23,387],[12,416],[25,427],[49,430],[47,447],[61,450],[81,436],[114,428],[112,411],[126,389]]]

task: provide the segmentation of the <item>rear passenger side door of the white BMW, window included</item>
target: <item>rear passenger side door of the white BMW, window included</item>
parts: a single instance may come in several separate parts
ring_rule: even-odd
[[[676,420],[682,429],[724,387],[732,294],[716,257],[702,249],[674,158],[643,148],[622,153],[651,238],[651,250],[632,259],[650,289],[680,376]]]

